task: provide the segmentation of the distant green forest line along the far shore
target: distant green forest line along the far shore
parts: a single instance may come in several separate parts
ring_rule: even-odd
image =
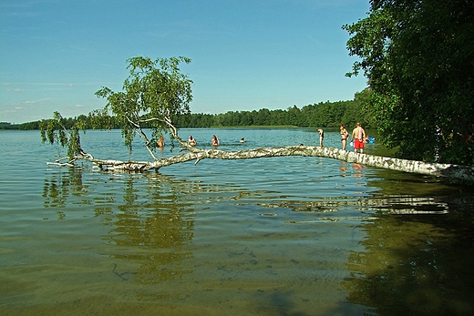
[[[356,93],[353,100],[320,102],[314,105],[298,108],[288,107],[286,110],[269,110],[262,108],[253,111],[229,111],[222,114],[191,113],[178,117],[177,127],[264,127],[264,126],[293,126],[293,127],[339,127],[345,124],[352,127],[361,122],[367,128],[375,128],[376,122],[368,111],[367,98],[369,90]],[[77,120],[88,122],[88,129],[92,128],[90,117],[80,115],[66,118],[66,127],[72,127]],[[41,121],[23,124],[0,122],[0,129],[35,130],[39,129]],[[113,128],[120,128],[114,124]]]

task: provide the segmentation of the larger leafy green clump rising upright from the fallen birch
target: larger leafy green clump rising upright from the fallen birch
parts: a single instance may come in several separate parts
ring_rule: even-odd
[[[150,155],[156,160],[153,149],[157,141],[172,121],[190,114],[192,81],[180,73],[180,63],[191,63],[187,57],[158,58],[133,57],[128,60],[129,77],[123,83],[123,90],[114,92],[102,87],[96,96],[107,99],[102,110],[92,113],[96,117],[96,127],[103,126],[104,119],[115,116],[122,128],[125,145],[132,150],[132,142],[139,135],[145,142]],[[152,130],[151,138],[144,128]],[[175,133],[173,133],[175,135]],[[176,136],[176,135],[175,135]]]

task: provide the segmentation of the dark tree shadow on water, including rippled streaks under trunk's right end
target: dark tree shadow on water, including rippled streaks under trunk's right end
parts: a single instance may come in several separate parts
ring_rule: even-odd
[[[474,313],[474,197],[470,187],[386,170],[366,219],[363,251],[352,251],[348,301],[374,315]]]

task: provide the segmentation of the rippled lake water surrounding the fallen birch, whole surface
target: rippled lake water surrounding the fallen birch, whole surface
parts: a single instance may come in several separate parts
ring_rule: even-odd
[[[190,134],[222,150],[319,141],[309,128]],[[130,158],[119,131],[82,144]],[[340,148],[337,130],[325,146]],[[329,158],[46,165],[64,154],[38,131],[0,132],[2,315],[474,313],[472,188]],[[139,140],[131,158],[150,160]]]

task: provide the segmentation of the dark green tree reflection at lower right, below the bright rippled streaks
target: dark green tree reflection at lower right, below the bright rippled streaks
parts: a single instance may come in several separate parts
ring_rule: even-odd
[[[348,259],[348,301],[372,306],[378,315],[471,314],[472,244],[459,242],[445,221],[381,213],[368,220],[365,250]]]

